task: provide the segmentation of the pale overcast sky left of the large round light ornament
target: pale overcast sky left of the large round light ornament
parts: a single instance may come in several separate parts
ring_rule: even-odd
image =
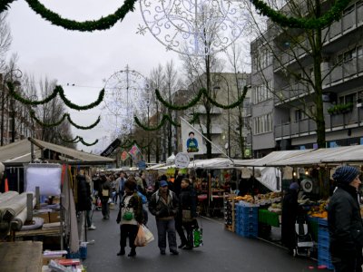
[[[47,8],[64,18],[78,21],[96,20],[102,15],[112,14],[123,1],[116,0],[47,0],[41,1]],[[103,79],[113,73],[130,68],[148,76],[159,63],[164,65],[171,59],[179,62],[177,53],[167,52],[152,34],[136,34],[139,24],[143,24],[139,4],[123,22],[111,29],[81,33],[68,31],[50,24],[26,4],[17,0],[10,5],[8,22],[11,27],[13,44],[11,53],[18,53],[18,66],[24,73],[34,74],[35,79],[47,76],[56,79],[64,91],[76,104],[87,104],[97,99],[103,88]],[[67,83],[75,86],[67,86]],[[100,107],[90,111],[69,111],[72,119],[82,125],[93,123],[100,114]],[[103,118],[104,120],[104,118]],[[97,149],[102,150],[113,141],[110,128],[103,122],[90,131],[73,128],[74,136],[82,136],[84,141],[99,139]],[[95,148],[78,145],[78,149],[91,151]]]

